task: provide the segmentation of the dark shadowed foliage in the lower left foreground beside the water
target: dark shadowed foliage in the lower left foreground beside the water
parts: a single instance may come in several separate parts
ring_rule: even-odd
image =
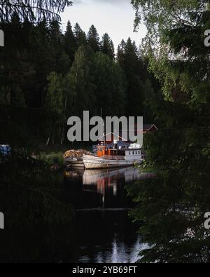
[[[63,175],[14,152],[4,162],[1,159],[0,173],[0,210],[6,219],[1,262],[70,259],[75,214],[62,194]]]

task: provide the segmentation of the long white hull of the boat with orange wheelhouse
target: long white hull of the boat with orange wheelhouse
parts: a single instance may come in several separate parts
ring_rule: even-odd
[[[134,160],[109,160],[105,158],[98,158],[96,156],[83,156],[83,163],[86,169],[101,169],[101,168],[121,168],[132,165],[139,165],[143,161],[142,158]]]

